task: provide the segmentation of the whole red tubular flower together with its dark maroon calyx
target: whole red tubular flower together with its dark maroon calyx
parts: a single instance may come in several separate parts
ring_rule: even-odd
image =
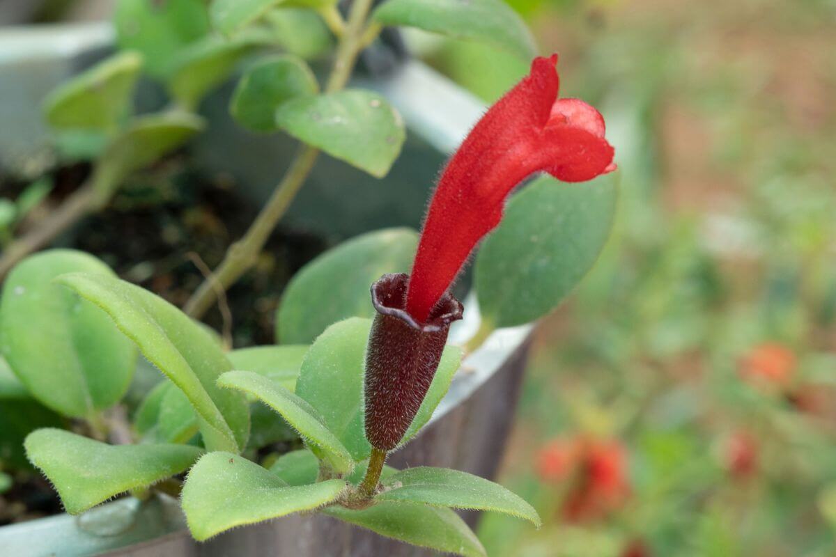
[[[378,452],[395,448],[415,418],[448,327],[461,318],[461,304],[445,296],[447,288],[499,224],[513,187],[541,170],[578,182],[615,168],[598,111],[558,99],[557,61],[535,59],[531,74],[487,111],[453,155],[433,195],[412,276],[386,275],[372,286],[377,315],[366,352],[364,418]]]

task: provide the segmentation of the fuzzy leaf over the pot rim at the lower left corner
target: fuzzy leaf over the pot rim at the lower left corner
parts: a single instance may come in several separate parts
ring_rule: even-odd
[[[51,481],[64,509],[79,514],[115,495],[188,469],[201,449],[188,445],[108,445],[61,429],[26,438],[29,460]]]

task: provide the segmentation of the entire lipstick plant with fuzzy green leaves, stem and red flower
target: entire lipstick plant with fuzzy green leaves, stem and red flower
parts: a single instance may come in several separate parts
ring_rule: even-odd
[[[215,0],[209,9],[218,31],[234,41],[287,17],[278,4]],[[499,0],[388,0],[374,11],[369,0],[354,0],[347,19],[328,0],[298,5],[328,24],[337,43],[334,68],[324,93],[301,58],[270,54],[244,73],[233,116],[303,145],[276,197],[209,286],[181,311],[92,256],[29,256],[3,285],[0,347],[14,377],[0,380],[19,382],[48,409],[53,427],[28,435],[26,456],[71,514],[125,492],[140,499],[165,493],[180,496],[198,540],[315,511],[410,544],[483,554],[451,509],[539,525],[534,509],[487,479],[446,468],[396,470],[385,460],[421,433],[447,392],[463,353],[447,337],[463,311],[478,307],[482,316],[466,345],[471,351],[497,327],[547,314],[593,265],[614,212],[613,182],[598,179],[615,170],[604,119],[579,99],[558,97],[556,55],[533,58],[528,76],[487,111],[446,165],[420,236],[380,230],[326,252],[288,286],[275,346],[227,350],[194,317],[252,264],[247,254],[261,249],[319,152],[383,176],[400,150],[404,130],[395,109],[379,95],[343,89],[382,26],[485,40],[532,58],[528,33]],[[173,18],[184,7],[191,13],[203,4],[171,2],[167,12],[152,13],[141,2],[124,3],[124,10],[139,10],[139,30],[122,42],[144,54],[152,77],[167,76],[183,109],[194,109],[210,84],[188,78],[207,65],[229,65],[224,35],[186,48],[186,59],[201,61],[188,73],[166,68],[150,48],[166,45],[140,36],[143,26],[163,25],[149,23],[152,16]],[[165,29],[170,42],[186,41],[184,28]],[[451,285],[480,243],[476,296],[465,307]],[[137,352],[165,379],[147,393],[130,431],[117,435],[109,409],[125,395]],[[303,448],[278,452],[276,443],[288,438]]]

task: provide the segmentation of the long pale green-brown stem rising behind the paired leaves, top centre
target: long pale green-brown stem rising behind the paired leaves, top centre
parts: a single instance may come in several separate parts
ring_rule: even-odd
[[[339,91],[349,82],[357,56],[363,49],[364,41],[368,40],[364,37],[364,27],[371,3],[372,0],[354,0],[349,20],[339,39],[334,67],[325,87],[326,93]],[[282,219],[298,190],[308,179],[318,155],[319,150],[308,145],[298,150],[284,178],[247,230],[247,234],[229,247],[221,265],[211,276],[206,277],[186,302],[184,311],[188,315],[199,319],[217,300],[219,291],[226,291],[252,267],[278,221]]]

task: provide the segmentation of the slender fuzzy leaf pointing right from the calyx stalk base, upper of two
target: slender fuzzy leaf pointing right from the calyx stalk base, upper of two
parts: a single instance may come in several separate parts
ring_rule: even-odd
[[[541,524],[537,511],[521,497],[487,479],[449,468],[402,470],[386,480],[385,490],[375,499],[490,510],[526,519],[538,528]]]

